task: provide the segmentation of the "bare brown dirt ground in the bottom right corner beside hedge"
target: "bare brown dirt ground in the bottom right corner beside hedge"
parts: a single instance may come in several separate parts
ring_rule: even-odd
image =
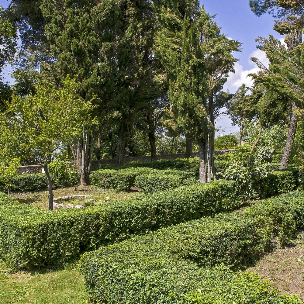
[[[295,293],[304,298],[304,232],[285,247],[278,244],[249,271],[258,273],[281,293]]]

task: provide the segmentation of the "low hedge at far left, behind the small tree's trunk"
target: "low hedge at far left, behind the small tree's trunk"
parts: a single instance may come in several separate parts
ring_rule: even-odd
[[[66,174],[64,180],[58,180],[53,174],[51,179],[54,188],[72,187],[78,185],[76,174]],[[44,173],[37,174],[17,174],[12,178],[13,191],[32,191],[47,188],[47,178]],[[0,183],[0,191],[6,191],[6,186]]]

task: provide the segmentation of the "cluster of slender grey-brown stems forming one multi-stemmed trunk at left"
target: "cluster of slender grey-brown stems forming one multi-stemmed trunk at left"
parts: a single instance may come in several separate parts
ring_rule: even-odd
[[[81,186],[87,186],[93,159],[96,136],[88,128],[84,129],[83,138],[74,139],[73,156]]]

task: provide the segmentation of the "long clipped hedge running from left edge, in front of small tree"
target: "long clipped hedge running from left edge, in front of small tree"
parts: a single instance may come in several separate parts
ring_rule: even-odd
[[[132,234],[235,209],[240,206],[240,199],[239,187],[233,181],[181,187],[58,212],[7,199],[7,204],[0,204],[0,256],[19,268],[53,267],[83,250]]]

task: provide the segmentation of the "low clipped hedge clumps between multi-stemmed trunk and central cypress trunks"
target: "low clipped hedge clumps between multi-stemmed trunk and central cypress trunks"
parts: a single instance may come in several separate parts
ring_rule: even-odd
[[[168,190],[182,185],[194,185],[198,182],[195,172],[146,167],[130,167],[120,170],[99,169],[92,172],[90,178],[92,185],[101,188],[122,191],[136,186],[145,192]]]

